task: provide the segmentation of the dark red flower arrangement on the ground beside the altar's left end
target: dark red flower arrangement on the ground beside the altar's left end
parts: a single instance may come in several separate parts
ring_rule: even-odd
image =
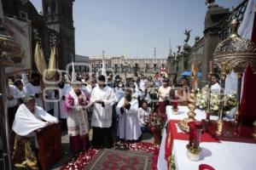
[[[166,125],[166,113],[160,113],[158,109],[152,109],[149,115],[148,127],[152,132],[154,130],[161,130]]]

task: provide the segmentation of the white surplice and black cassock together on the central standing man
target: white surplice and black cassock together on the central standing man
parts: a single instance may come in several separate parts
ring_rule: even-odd
[[[96,100],[104,104],[95,103]],[[91,126],[93,127],[92,144],[96,147],[111,148],[113,146],[112,115],[113,105],[118,101],[112,88],[96,86],[91,92],[92,105]]]

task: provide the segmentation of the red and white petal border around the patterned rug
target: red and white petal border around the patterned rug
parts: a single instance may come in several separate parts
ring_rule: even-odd
[[[140,143],[127,143],[127,146],[130,150],[141,150],[147,151],[153,154],[152,157],[152,169],[157,170],[157,160],[159,155],[159,146],[157,144],[151,144],[146,142]],[[90,163],[94,156],[98,153],[99,150],[90,149],[87,151],[80,152],[72,161],[69,161],[60,170],[70,170],[70,169],[84,169],[86,165]]]

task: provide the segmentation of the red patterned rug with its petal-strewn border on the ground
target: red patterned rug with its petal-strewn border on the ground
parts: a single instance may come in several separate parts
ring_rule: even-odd
[[[104,150],[94,150],[94,149],[91,149],[91,150],[87,150],[87,151],[84,151],[84,152],[81,152],[79,153],[78,156],[76,156],[75,158],[73,158],[72,161],[68,162],[67,164],[65,164],[63,167],[61,167],[61,170],[68,170],[68,169],[98,169],[98,168],[93,168],[93,163],[95,162],[101,162],[101,165],[102,166],[105,166],[104,169],[138,169],[137,167],[142,167],[142,165],[146,166],[146,157],[147,157],[147,154],[144,154],[144,158],[145,159],[137,159],[138,156],[142,156],[141,153],[142,151],[146,151],[146,152],[149,152],[151,154],[148,154],[148,157],[150,157],[151,160],[148,160],[148,162],[150,162],[151,165],[147,165],[150,167],[150,169],[154,169],[156,170],[156,166],[157,166],[157,158],[158,158],[158,154],[159,154],[159,146],[156,145],[156,144],[151,144],[151,143],[144,143],[144,142],[141,142],[141,143],[135,143],[135,144],[129,144],[129,149],[128,151],[123,151],[124,153],[126,154],[123,154],[123,155],[119,155],[120,157],[122,157],[123,161],[122,163],[113,163],[113,161],[109,164],[109,160],[114,160],[116,161],[115,158],[117,158],[117,154],[111,154],[111,152],[104,152]],[[134,152],[133,151],[133,154],[134,156],[132,156],[132,159],[127,159],[129,156],[132,155],[132,150],[138,150],[138,152]],[[116,150],[116,151],[119,151],[119,150]],[[112,153],[114,153],[112,151]],[[118,153],[118,152],[116,152]],[[112,155],[112,156],[110,156]],[[101,156],[104,156],[105,158],[104,159],[100,159],[99,160],[99,157],[102,158]],[[107,160],[108,158],[108,160]],[[125,158],[125,159],[124,159]],[[144,161],[141,161],[141,160],[144,160]],[[104,162],[108,162],[108,163],[104,163]],[[132,162],[131,162],[132,161]],[[133,166],[135,168],[131,168],[132,166],[130,165],[138,165],[139,163],[137,161],[141,161],[142,164],[141,166]],[[98,163],[100,164],[100,163]],[[116,167],[116,165],[119,166],[119,168],[114,168]],[[123,166],[121,168],[121,165]],[[129,165],[129,166],[127,166]],[[107,168],[107,167],[111,167],[111,168]],[[141,169],[141,168],[139,168]]]

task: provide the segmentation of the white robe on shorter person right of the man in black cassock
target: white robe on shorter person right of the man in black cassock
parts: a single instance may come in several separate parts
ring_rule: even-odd
[[[116,112],[119,115],[119,139],[137,140],[142,135],[142,130],[138,121],[138,101],[131,99],[131,107],[129,110],[121,114],[120,108],[124,104],[124,98],[119,101]]]

